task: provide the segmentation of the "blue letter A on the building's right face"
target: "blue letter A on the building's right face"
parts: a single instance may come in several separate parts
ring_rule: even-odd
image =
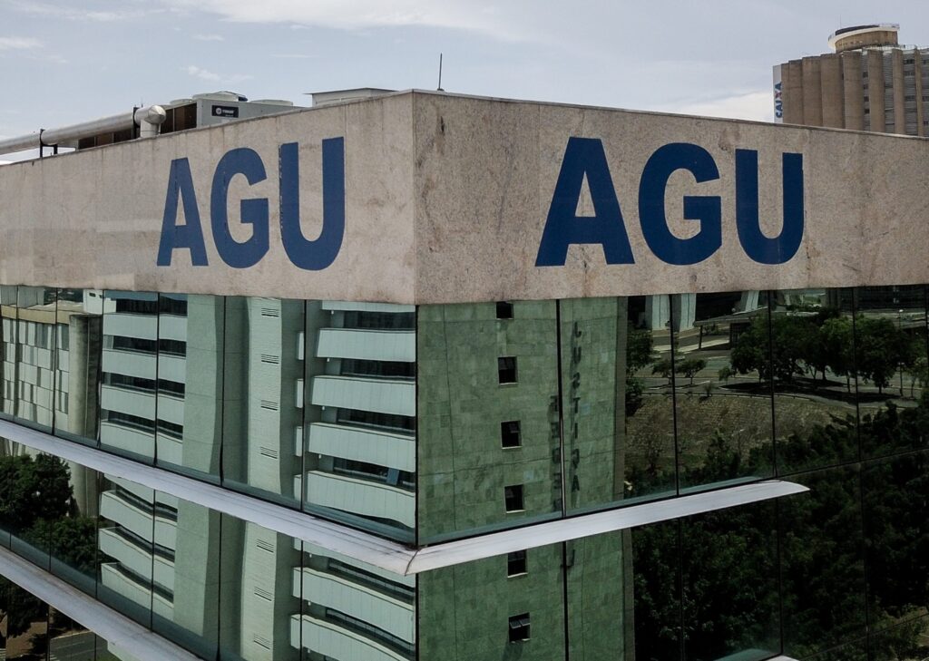
[[[594,201],[594,216],[576,215],[584,175]],[[635,264],[607,155],[603,143],[595,138],[568,139],[535,266],[565,266],[572,243],[599,243],[607,264]]]

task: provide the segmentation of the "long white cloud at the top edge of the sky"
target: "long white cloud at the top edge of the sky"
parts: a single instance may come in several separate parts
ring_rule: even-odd
[[[205,11],[238,22],[294,23],[339,30],[432,27],[520,40],[519,22],[500,17],[491,0],[162,0],[172,9]],[[518,12],[517,12],[518,13]]]

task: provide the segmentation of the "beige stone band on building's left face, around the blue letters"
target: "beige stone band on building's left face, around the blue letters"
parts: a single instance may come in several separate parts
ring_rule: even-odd
[[[0,282],[134,291],[275,295],[394,301],[412,291],[412,96],[294,112],[155,139],[88,149],[0,168]],[[291,264],[281,246],[278,149],[300,145],[301,224],[321,228],[321,140],[345,136],[346,235],[322,271]],[[210,229],[216,164],[229,149],[255,149],[267,178],[229,187],[229,224],[238,241],[239,201],[267,198],[269,250],[250,268],[226,266]],[[168,175],[187,158],[209,266],[177,250],[156,266]],[[180,206],[180,205],[179,205]],[[178,223],[183,223],[178,212]]]

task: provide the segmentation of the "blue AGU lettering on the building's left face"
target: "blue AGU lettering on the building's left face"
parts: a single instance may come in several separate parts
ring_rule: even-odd
[[[346,172],[345,138],[322,141],[322,229],[319,237],[307,240],[300,228],[300,161],[298,145],[281,145],[279,190],[281,199],[281,242],[288,259],[299,268],[318,271],[331,265],[342,247],[345,235]],[[231,149],[216,164],[210,188],[210,228],[216,253],[233,268],[255,266],[268,253],[270,214],[267,198],[240,202],[242,223],[252,226],[252,235],[236,240],[229,231],[229,183],[242,175],[249,186],[268,178],[265,163],[254,149]],[[184,208],[184,225],[177,224],[178,207]],[[190,251],[193,266],[208,266],[200,207],[190,175],[190,162],[175,159],[168,174],[164,200],[162,238],[158,246],[158,266],[171,266],[178,248]]]

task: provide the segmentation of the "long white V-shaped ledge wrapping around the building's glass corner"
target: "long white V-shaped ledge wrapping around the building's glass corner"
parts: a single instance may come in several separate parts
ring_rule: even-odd
[[[82,446],[15,422],[0,420],[0,436],[402,576],[809,490],[792,482],[765,480],[502,530],[416,550],[312,514]]]

